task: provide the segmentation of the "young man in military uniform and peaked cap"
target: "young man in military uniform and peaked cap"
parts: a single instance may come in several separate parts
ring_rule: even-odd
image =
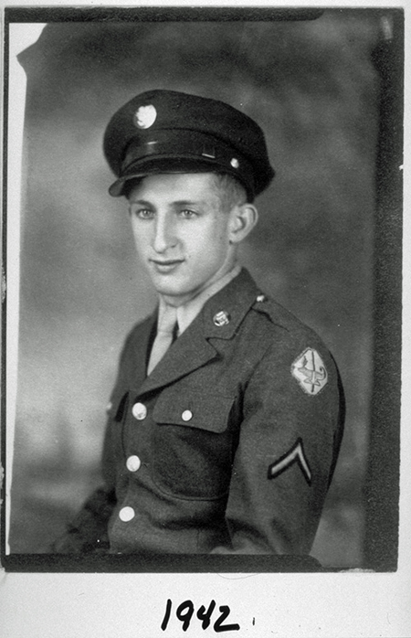
[[[262,131],[153,90],[113,116],[104,149],[159,303],[122,350],[104,485],[56,551],[308,554],[342,393],[319,337],[237,263],[274,175]]]

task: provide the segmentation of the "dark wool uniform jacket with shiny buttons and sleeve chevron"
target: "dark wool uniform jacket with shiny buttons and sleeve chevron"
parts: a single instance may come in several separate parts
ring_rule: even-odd
[[[342,439],[326,347],[244,269],[147,377],[155,327],[126,340],[104,486],[56,551],[308,554]]]

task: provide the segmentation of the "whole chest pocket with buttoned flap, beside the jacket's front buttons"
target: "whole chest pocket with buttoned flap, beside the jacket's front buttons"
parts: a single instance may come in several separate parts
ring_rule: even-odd
[[[232,466],[233,399],[164,391],[153,409],[153,481],[167,494],[216,499],[227,494]]]

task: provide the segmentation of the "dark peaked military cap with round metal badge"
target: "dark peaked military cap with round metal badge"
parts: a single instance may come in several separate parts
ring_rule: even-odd
[[[104,154],[118,177],[113,197],[136,177],[219,172],[237,177],[252,201],[274,176],[257,122],[225,102],[174,90],[150,90],[124,104],[107,126]]]

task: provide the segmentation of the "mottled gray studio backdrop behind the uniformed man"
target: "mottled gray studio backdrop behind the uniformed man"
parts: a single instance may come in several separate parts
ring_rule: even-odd
[[[227,101],[267,133],[277,176],[243,261],[316,329],[341,369],[342,453],[313,556],[361,566],[372,388],[374,165],[382,37],[373,11],[309,22],[49,24],[27,74],[16,451],[10,546],[49,551],[99,483],[121,343],[155,303],[102,135],[143,90]],[[9,213],[10,214],[10,213]]]

